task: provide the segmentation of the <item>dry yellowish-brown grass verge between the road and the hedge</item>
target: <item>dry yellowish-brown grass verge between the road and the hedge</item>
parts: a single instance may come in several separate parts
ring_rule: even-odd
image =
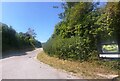
[[[83,78],[87,77],[88,79],[106,78],[106,77],[101,77],[97,74],[118,75],[118,70],[113,70],[109,67],[103,66],[96,61],[78,62],[78,61],[62,60],[57,57],[50,57],[44,52],[40,52],[37,55],[37,59],[54,68],[63,69],[67,72],[73,73],[74,75],[83,76]]]

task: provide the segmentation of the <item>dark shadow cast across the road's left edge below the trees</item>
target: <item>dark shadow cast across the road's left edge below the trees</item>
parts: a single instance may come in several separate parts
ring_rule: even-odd
[[[26,55],[28,51],[33,51],[33,49],[26,50],[10,50],[2,53],[2,59],[12,57],[12,56],[22,56]]]

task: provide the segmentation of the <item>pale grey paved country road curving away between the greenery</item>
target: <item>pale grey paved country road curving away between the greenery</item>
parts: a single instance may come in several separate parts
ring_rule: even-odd
[[[22,55],[13,54],[0,60],[2,79],[78,79],[78,77],[39,62],[35,56],[40,51],[42,48]]]

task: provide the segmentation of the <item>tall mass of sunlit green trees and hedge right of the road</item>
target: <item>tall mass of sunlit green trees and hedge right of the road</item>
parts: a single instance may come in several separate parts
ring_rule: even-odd
[[[65,11],[59,14],[62,21],[55,26],[44,51],[62,59],[84,61],[94,56],[98,59],[97,48],[101,41],[117,39],[119,43],[120,2],[107,3],[100,8],[97,5],[91,2],[65,3]]]

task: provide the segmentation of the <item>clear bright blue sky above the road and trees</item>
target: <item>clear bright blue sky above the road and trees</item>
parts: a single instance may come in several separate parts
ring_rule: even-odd
[[[18,33],[35,30],[36,39],[46,42],[60,21],[58,14],[63,12],[60,2],[2,2],[0,22],[12,26]],[[0,17],[1,18],[1,17]]]

